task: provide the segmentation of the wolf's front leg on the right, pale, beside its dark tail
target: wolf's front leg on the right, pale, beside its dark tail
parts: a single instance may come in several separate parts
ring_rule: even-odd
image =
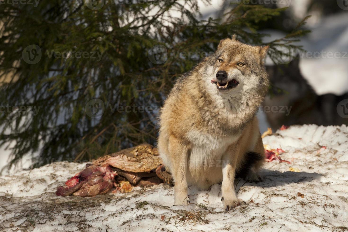
[[[223,156],[224,160],[222,165],[221,192],[223,199],[223,208],[226,211],[229,211],[230,209],[233,209],[234,207],[244,203],[242,200],[237,198],[237,194],[234,189],[238,153],[236,152],[235,154],[231,154],[231,150],[232,149],[228,149],[226,155]]]

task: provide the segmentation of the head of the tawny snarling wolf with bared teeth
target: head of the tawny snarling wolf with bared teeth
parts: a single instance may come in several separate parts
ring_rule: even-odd
[[[236,40],[235,36],[221,40],[215,55],[208,59],[208,77],[204,81],[223,95],[250,89],[267,91],[264,59],[268,48],[246,45]]]

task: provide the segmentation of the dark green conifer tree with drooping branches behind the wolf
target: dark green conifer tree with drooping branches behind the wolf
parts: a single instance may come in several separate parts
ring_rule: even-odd
[[[9,166],[26,154],[44,165],[155,144],[176,78],[233,34],[262,45],[259,23],[285,10],[242,1],[223,19],[200,20],[197,0],[30,2],[0,7],[0,146],[11,143]],[[303,23],[268,44],[275,62],[284,55],[277,46],[298,48]]]

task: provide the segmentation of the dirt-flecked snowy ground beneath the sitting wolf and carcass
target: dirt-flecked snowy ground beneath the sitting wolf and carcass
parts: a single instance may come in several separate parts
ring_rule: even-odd
[[[85,163],[56,162],[0,176],[0,231],[348,231],[348,128],[292,126],[263,142],[291,164],[266,163],[260,183],[237,179],[247,205],[232,211],[222,208],[220,184],[190,187],[187,207],[173,206],[174,189],[164,184],[57,197],[56,187]]]

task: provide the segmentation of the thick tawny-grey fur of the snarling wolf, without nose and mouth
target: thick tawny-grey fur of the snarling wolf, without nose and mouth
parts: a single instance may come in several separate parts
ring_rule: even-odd
[[[176,205],[189,203],[188,184],[207,189],[222,181],[224,208],[229,210],[240,204],[235,174],[258,181],[264,150],[255,113],[268,90],[267,50],[235,37],[221,40],[214,55],[173,87],[161,110],[158,149],[173,175]],[[221,70],[228,83],[239,84],[217,89],[216,73]]]

